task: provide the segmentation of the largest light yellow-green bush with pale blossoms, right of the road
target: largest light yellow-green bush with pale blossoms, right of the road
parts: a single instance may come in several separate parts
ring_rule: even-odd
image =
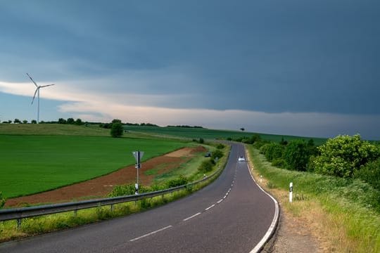
[[[360,135],[336,136],[318,147],[320,155],[314,160],[315,171],[320,174],[352,177],[361,166],[380,157],[380,150]]]

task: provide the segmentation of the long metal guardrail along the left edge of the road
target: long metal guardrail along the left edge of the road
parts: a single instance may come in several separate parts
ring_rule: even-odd
[[[34,216],[43,216],[46,214],[57,214],[61,212],[69,212],[69,211],[75,211],[80,209],[88,209],[92,207],[101,207],[110,205],[111,210],[113,205],[125,203],[125,202],[132,202],[137,200],[144,200],[151,197],[156,197],[159,195],[165,195],[167,193],[174,193],[177,190],[182,190],[184,188],[187,188],[189,186],[194,186],[197,183],[201,183],[203,181],[206,181],[208,179],[212,179],[215,175],[220,173],[222,169],[217,169],[213,174],[210,176],[205,176],[203,179],[188,183],[183,186],[177,186],[165,190],[158,190],[151,193],[141,193],[139,195],[126,195],[126,196],[120,196],[120,197],[108,197],[108,198],[101,198],[96,200],[84,200],[84,201],[78,201],[78,202],[67,202],[67,203],[61,203],[61,204],[51,204],[51,205],[41,205],[36,207],[22,207],[22,208],[14,208],[14,209],[2,209],[0,210],[0,221],[8,221],[17,219],[18,221],[18,227],[20,226],[21,220],[24,218],[30,218]]]

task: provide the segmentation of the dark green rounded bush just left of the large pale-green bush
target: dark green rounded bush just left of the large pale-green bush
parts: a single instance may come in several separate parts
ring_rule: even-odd
[[[291,141],[284,150],[286,169],[306,171],[309,162],[308,145],[303,140]]]

